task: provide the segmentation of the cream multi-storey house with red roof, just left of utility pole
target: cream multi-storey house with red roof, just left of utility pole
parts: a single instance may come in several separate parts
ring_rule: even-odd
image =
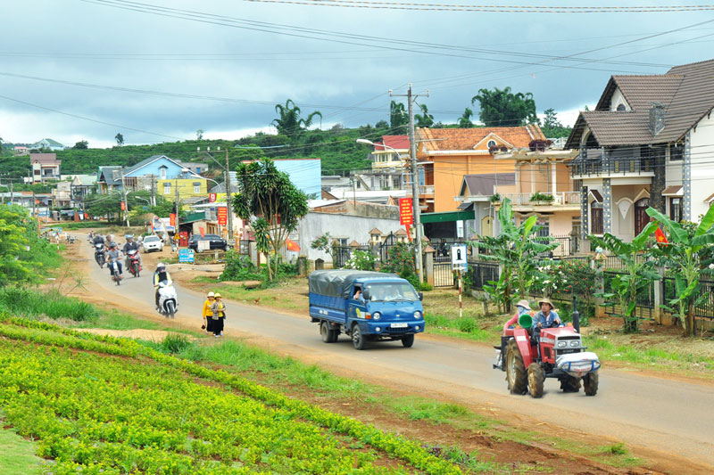
[[[410,171],[404,161],[409,159],[409,148],[409,136],[383,135],[382,142],[375,143],[369,154],[371,169],[353,171],[351,175],[363,190],[403,190],[405,175]]]

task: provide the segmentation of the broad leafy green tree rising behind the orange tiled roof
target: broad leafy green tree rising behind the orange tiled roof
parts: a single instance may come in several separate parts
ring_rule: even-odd
[[[478,118],[486,127],[516,127],[539,123],[535,113],[535,100],[531,93],[512,93],[511,87],[501,90],[479,89],[471,98],[471,104],[478,102]]]

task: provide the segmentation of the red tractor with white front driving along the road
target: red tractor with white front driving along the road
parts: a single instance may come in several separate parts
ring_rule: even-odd
[[[582,381],[587,396],[597,394],[600,361],[593,352],[585,351],[577,315],[574,326],[532,329],[530,315],[521,315],[519,326],[508,329],[494,369],[506,373],[511,394],[530,393],[543,397],[545,378],[556,378],[560,389],[577,392]]]

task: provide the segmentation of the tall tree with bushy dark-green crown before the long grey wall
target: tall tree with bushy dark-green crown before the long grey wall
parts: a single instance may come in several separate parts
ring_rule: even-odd
[[[278,274],[279,255],[288,234],[295,231],[300,218],[308,213],[307,196],[272,160],[241,163],[237,171],[238,190],[233,197],[233,208],[237,216],[252,220],[256,241],[260,238],[263,249],[270,244],[275,254],[268,265],[268,276],[272,280]]]

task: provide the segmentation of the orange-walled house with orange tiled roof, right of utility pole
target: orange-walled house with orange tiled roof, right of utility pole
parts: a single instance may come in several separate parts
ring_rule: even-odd
[[[494,153],[545,140],[541,128],[418,128],[419,205],[422,212],[455,211],[464,175],[513,174],[515,160],[495,160]]]

